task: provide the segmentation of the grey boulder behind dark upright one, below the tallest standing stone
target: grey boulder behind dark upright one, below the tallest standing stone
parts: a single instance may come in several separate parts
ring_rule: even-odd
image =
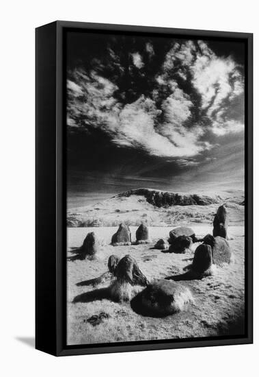
[[[213,263],[215,265],[221,266],[224,263],[230,263],[232,261],[230,245],[223,237],[214,237],[211,234],[207,234],[203,239],[203,243],[210,245],[213,254]]]

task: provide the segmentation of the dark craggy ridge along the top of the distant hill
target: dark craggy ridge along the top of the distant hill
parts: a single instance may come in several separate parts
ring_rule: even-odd
[[[115,195],[115,197],[130,197],[131,195],[140,195],[146,197],[146,201],[156,207],[168,206],[208,206],[210,204],[218,203],[220,197],[209,197],[206,195],[197,194],[179,194],[170,193],[168,191],[159,191],[152,189],[135,189],[125,191]]]

